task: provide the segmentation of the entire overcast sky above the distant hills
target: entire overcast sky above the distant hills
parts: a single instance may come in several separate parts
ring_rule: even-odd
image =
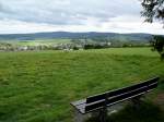
[[[140,0],[0,0],[0,34],[115,32],[164,34],[143,23]]]

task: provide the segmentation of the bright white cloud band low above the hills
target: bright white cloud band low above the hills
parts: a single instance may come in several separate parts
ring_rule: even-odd
[[[15,20],[0,20],[0,34],[13,33],[37,33],[37,32],[114,32],[114,33],[150,33],[150,34],[164,34],[164,29],[159,23],[140,23],[140,22],[119,22],[114,21],[103,23],[95,26],[94,20],[90,20],[86,26],[83,25],[54,25],[44,23],[28,23]],[[131,19],[132,20],[132,19]]]

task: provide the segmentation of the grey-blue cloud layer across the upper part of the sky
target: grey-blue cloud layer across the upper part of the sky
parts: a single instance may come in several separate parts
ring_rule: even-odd
[[[82,25],[90,17],[99,23],[124,14],[138,14],[137,0],[1,0],[0,19],[54,25]]]

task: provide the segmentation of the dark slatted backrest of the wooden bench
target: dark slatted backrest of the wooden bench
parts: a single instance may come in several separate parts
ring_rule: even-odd
[[[126,99],[143,95],[147,91],[155,88],[157,86],[160,77],[153,77],[142,83],[131,85],[129,87],[109,90],[99,95],[87,97],[85,112],[101,109],[105,106],[112,106]]]

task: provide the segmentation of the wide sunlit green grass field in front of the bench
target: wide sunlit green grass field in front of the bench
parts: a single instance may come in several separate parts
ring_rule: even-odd
[[[71,101],[155,75],[164,62],[150,48],[0,52],[0,122],[72,122]]]

